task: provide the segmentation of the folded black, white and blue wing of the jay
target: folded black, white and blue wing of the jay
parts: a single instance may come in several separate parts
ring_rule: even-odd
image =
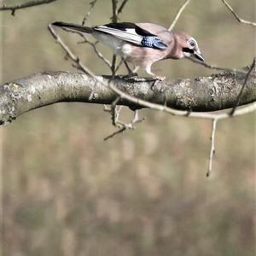
[[[121,40],[129,42],[131,44],[136,44],[138,46],[157,49],[164,49],[167,47],[165,47],[165,44],[163,42],[160,47],[158,47],[159,44],[152,44],[151,46],[149,46],[148,44],[144,44],[145,38],[148,37],[158,38],[159,41],[162,40],[157,35],[154,35],[131,22],[109,23],[102,26],[95,26],[93,27],[93,29],[96,32],[104,32],[112,35],[115,38],[119,38]]]

